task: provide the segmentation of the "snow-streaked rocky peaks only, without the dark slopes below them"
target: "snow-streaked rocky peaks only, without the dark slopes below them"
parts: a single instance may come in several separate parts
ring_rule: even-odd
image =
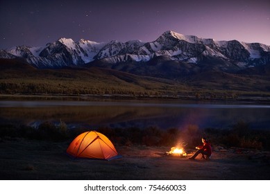
[[[269,63],[270,46],[237,40],[216,41],[166,31],[153,42],[98,43],[85,39],[74,42],[60,38],[44,47],[16,46],[6,51],[0,50],[0,58],[24,58],[29,64],[40,68],[83,66],[96,61],[106,64],[142,63],[157,57],[198,65],[205,62],[205,58],[214,58],[244,69]]]

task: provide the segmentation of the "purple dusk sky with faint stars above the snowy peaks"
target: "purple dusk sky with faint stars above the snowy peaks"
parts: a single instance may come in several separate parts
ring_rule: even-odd
[[[0,0],[0,48],[60,37],[151,42],[166,30],[270,45],[269,0]]]

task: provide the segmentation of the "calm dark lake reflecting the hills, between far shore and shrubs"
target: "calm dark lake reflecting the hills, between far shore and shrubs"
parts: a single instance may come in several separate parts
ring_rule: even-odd
[[[244,121],[254,130],[270,130],[270,105],[177,100],[0,100],[0,124],[37,127],[44,121],[63,121],[69,128],[91,130],[101,126],[228,128]]]

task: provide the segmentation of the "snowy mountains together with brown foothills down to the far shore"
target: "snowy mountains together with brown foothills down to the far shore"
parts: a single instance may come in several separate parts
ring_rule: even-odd
[[[44,47],[15,46],[0,50],[0,70],[4,94],[41,94],[46,90],[48,94],[151,91],[194,95],[201,89],[208,94],[248,91],[270,96],[270,46],[173,31],[153,42],[97,43],[61,38]],[[64,82],[69,87],[59,91]],[[84,91],[77,91],[82,86]]]

